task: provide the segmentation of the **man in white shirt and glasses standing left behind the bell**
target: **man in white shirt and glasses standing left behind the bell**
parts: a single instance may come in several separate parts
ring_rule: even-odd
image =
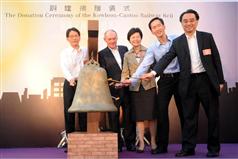
[[[80,32],[77,28],[69,28],[66,31],[66,39],[69,46],[60,55],[61,68],[64,74],[64,117],[66,133],[75,131],[75,114],[69,113],[77,86],[77,79],[84,63],[88,60],[88,51],[79,46]],[[80,131],[87,130],[87,113],[78,113]]]

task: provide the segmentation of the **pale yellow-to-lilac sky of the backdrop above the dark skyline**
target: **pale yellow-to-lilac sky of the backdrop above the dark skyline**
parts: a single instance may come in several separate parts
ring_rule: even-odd
[[[77,27],[82,47],[87,47],[87,21],[99,20],[99,50],[106,47],[103,33],[118,32],[118,44],[131,47],[126,39],[131,27],[143,31],[143,44],[155,37],[148,22],[164,19],[167,33],[183,33],[180,14],[189,9],[200,14],[198,30],[215,38],[228,87],[238,81],[238,3],[161,1],[3,1],[1,2],[1,94],[42,94],[53,77],[62,77],[59,54],[67,46],[65,31]],[[17,79],[17,80],[16,80]]]

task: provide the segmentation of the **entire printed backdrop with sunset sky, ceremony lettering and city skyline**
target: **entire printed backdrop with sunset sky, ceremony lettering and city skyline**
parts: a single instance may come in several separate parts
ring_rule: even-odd
[[[148,22],[165,21],[167,34],[183,33],[180,14],[200,14],[198,30],[211,32],[220,51],[226,90],[221,102],[221,140],[238,142],[238,3],[162,1],[1,1],[0,147],[56,146],[64,129],[59,54],[67,47],[69,27],[81,31],[81,47],[88,46],[88,21],[99,24],[98,50],[106,47],[107,29],[118,33],[118,44],[130,44],[131,27],[143,31],[143,45],[155,37]],[[201,109],[198,141],[205,142],[206,117]],[[170,103],[170,142],[180,142],[174,101]]]

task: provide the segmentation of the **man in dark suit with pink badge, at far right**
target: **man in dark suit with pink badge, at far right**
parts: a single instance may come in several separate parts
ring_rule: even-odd
[[[182,150],[176,157],[195,154],[198,111],[202,103],[208,118],[207,157],[217,157],[219,141],[219,95],[224,87],[220,55],[212,34],[197,31],[199,15],[189,9],[180,16],[185,34],[173,41],[170,51],[143,79],[161,74],[177,56],[180,65],[179,93],[184,113]]]

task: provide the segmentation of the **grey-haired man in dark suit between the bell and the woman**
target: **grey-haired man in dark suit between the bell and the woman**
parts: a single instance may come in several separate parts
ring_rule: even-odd
[[[104,40],[107,47],[98,53],[99,64],[107,72],[107,78],[113,80],[121,80],[121,71],[123,66],[124,54],[128,51],[126,46],[117,46],[117,33],[114,30],[107,30],[104,33]],[[109,126],[110,129],[118,133],[118,151],[122,151],[122,139],[120,135],[119,112],[120,107],[123,109],[123,118],[125,119],[125,128],[123,131],[125,143],[128,151],[135,151],[135,123],[131,122],[130,107],[128,101],[128,88],[115,89],[110,87],[111,95],[119,97],[120,100],[116,101],[118,112],[109,112]]]

